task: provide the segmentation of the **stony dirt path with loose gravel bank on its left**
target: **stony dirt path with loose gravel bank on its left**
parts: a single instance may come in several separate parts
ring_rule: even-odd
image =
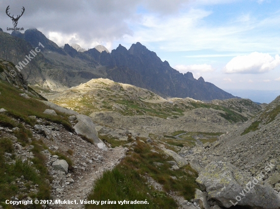
[[[84,208],[80,204],[80,200],[87,199],[87,194],[92,190],[94,181],[103,175],[104,170],[113,169],[125,157],[127,148],[116,147],[103,151],[60,125],[51,125],[56,126],[59,130],[46,131],[46,137],[35,133],[35,137],[43,140],[49,150],[66,155],[73,162],[73,167],[69,166],[69,173],[66,175],[52,167],[52,162],[57,160],[58,156],[52,156],[47,150],[44,151],[47,168],[53,179],[50,182],[52,199],[53,201],[76,200],[78,204],[49,204],[46,205],[46,208]],[[72,155],[68,154],[69,150],[73,152]]]

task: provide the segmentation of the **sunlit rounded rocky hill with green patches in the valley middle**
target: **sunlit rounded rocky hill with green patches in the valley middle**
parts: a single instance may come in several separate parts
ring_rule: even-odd
[[[146,135],[179,130],[223,132],[261,110],[246,99],[215,100],[225,107],[192,98],[166,100],[147,89],[108,79],[92,79],[60,93],[43,95],[57,105],[89,115],[99,124],[146,130]]]

